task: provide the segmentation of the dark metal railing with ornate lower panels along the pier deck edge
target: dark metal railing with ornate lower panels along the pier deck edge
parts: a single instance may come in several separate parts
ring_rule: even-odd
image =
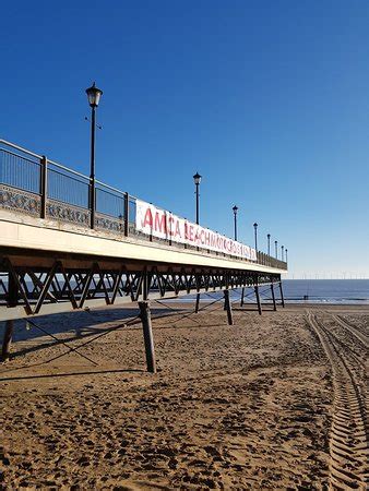
[[[0,140],[0,207],[35,217],[57,219],[71,225],[91,226],[91,179],[46,156]],[[174,248],[198,248],[146,236],[135,228],[136,199],[98,180],[95,181],[95,224],[100,231],[133,236]],[[202,254],[235,256],[206,249]],[[239,261],[247,259],[237,258]],[[254,263],[254,262],[253,262]],[[287,263],[258,251],[258,264],[287,270]]]

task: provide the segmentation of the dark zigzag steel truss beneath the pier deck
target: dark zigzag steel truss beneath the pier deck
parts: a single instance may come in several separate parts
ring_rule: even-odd
[[[281,276],[272,273],[134,265],[121,260],[49,258],[37,264],[28,256],[0,258],[0,321],[189,294],[197,294],[198,311],[202,292],[241,287],[243,304],[245,288],[281,282]]]

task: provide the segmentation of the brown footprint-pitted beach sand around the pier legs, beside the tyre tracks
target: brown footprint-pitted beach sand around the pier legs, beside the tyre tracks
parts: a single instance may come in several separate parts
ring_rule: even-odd
[[[0,366],[0,489],[329,489],[335,372],[306,307],[235,308],[233,326],[218,304],[184,308],[153,321],[156,374],[141,325],[123,326],[136,310],[34,319],[74,348],[105,333],[80,349],[96,364],[17,322]],[[309,311],[367,335],[368,307]]]

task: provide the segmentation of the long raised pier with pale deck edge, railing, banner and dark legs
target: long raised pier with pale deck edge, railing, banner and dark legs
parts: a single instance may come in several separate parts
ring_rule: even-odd
[[[287,263],[128,192],[0,140],[0,321],[138,303],[153,356],[150,300],[229,290],[283,290]],[[150,367],[154,371],[154,362]]]

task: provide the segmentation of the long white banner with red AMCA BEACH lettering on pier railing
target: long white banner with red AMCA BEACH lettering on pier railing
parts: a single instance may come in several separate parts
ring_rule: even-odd
[[[147,236],[257,261],[255,249],[136,200],[135,228]]]

